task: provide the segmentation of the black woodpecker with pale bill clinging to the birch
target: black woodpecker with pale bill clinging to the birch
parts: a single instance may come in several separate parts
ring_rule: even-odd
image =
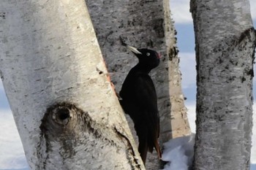
[[[122,42],[122,41],[121,41]],[[147,152],[157,150],[159,159],[162,153],[159,147],[159,112],[157,108],[157,92],[154,82],[148,75],[151,69],[156,68],[160,62],[160,55],[146,48],[137,49],[122,42],[138,58],[135,65],[127,74],[119,92],[120,104],[135,125],[138,135],[138,151],[144,165]]]

